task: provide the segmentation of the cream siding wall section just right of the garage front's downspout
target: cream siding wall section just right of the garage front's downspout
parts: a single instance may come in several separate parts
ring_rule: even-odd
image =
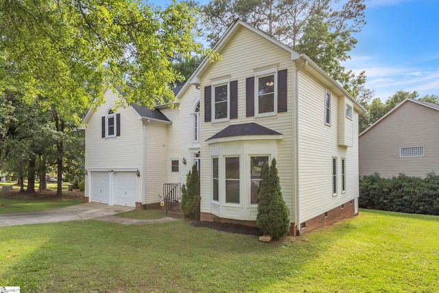
[[[169,183],[171,161],[167,157],[167,124],[150,121],[146,125],[146,145],[145,203],[150,204],[158,202],[158,195],[163,195],[163,184]]]

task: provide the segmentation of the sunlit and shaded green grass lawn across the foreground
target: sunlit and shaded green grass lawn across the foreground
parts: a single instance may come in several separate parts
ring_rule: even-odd
[[[183,220],[0,227],[0,285],[23,292],[437,292],[439,217],[360,212],[271,244]]]

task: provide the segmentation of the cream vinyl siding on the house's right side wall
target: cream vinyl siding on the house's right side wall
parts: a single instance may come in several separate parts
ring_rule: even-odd
[[[338,144],[339,103],[330,89],[304,71],[299,73],[299,206],[300,222],[309,220],[358,196],[357,143]],[[325,124],[325,96],[331,93],[331,126]],[[353,113],[353,131],[358,132],[358,113]],[[332,189],[332,158],[337,158],[337,196]],[[346,158],[346,193],[342,193],[342,158]]]

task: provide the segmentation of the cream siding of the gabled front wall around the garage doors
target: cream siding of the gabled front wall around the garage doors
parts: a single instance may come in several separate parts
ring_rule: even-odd
[[[85,130],[86,165],[88,169],[139,169],[141,171],[141,130],[142,123],[136,111],[131,107],[119,108],[121,115],[120,137],[102,138],[102,117],[119,99],[111,89],[106,89],[106,103],[99,106],[88,120]],[[137,200],[141,201],[141,180],[137,180]],[[86,176],[85,194],[88,196]]]

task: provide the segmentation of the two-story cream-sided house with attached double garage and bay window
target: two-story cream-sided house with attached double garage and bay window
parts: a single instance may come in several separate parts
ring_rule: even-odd
[[[261,166],[276,158],[293,234],[357,214],[361,104],[307,56],[243,21],[213,49],[222,59],[195,70],[176,94],[180,110],[123,108],[119,137],[104,137],[102,126],[117,121],[107,106],[113,93],[88,117],[90,200],[109,185],[102,194],[117,204],[119,173],[132,172],[137,206],[154,204],[160,185],[184,183],[195,163],[201,220],[255,225]],[[109,182],[96,185],[95,172]]]

